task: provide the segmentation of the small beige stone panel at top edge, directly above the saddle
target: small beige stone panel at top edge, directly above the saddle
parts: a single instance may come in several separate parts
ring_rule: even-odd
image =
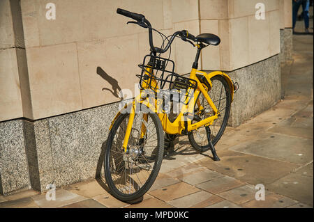
[[[227,19],[227,0],[200,0],[200,19]]]

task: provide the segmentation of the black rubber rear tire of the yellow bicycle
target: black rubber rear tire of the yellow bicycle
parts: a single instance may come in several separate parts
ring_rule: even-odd
[[[221,86],[220,86],[220,97],[221,97],[222,91],[225,94],[225,108],[218,107],[218,106],[220,106],[219,102],[221,102],[221,101],[220,100],[219,100],[219,102],[216,101],[215,98],[213,97],[213,95],[210,95],[210,94],[216,93],[215,90],[219,88],[219,86],[218,86],[219,82],[221,84]],[[216,145],[216,143],[220,140],[221,136],[223,136],[223,132],[225,132],[225,127],[227,127],[227,122],[229,120],[230,109],[231,109],[231,95],[230,95],[230,87],[227,84],[227,81],[225,80],[225,78],[223,76],[217,75],[217,76],[211,77],[211,83],[212,83],[212,87],[211,87],[211,90],[209,90],[209,96],[211,97],[211,100],[213,100],[216,108],[219,111],[221,111],[222,109],[225,110],[225,112],[223,113],[223,118],[221,119],[220,118],[221,116],[218,117],[218,119],[220,118],[220,120],[222,120],[221,125],[218,129],[218,132],[216,133],[215,136],[213,134],[211,134],[211,142],[214,145]],[[197,100],[200,100],[201,96],[204,97],[204,95],[202,95],[202,93],[200,93]],[[203,100],[203,101],[206,102],[207,105],[209,106],[207,100]],[[202,105],[204,105],[204,104],[202,104]],[[197,111],[196,106],[197,106],[197,103],[195,102],[195,111]],[[211,112],[214,112],[214,111],[212,111],[212,109],[211,109]],[[204,118],[202,118],[202,119],[204,119]],[[214,123],[217,122],[218,119],[214,120]],[[194,123],[194,122],[192,122],[192,123]],[[215,126],[211,125],[210,128],[211,128],[211,132],[214,132],[213,128],[215,128]],[[200,130],[200,129],[204,130],[204,127],[200,127],[198,129],[195,129],[192,132],[190,132],[190,134],[188,134],[188,140],[190,141],[190,145],[192,145],[193,148],[195,148],[195,150],[198,150],[200,152],[205,152],[205,151],[210,149],[210,146],[209,146],[208,141],[207,141],[207,135],[205,134],[204,138],[200,139],[202,141],[202,143],[204,143],[206,145],[202,145],[202,144],[200,144],[200,141],[195,140],[195,134],[197,133],[197,130]]]

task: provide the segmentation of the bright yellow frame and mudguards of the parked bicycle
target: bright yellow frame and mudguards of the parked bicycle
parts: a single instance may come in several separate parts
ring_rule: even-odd
[[[151,70],[149,68],[147,68],[147,74],[149,74],[149,73],[151,73]],[[196,74],[203,75],[207,79],[207,81],[209,82],[210,86],[211,86],[211,81],[210,81],[211,77],[214,77],[216,75],[222,75],[223,77],[225,77],[225,79],[228,82],[228,85],[230,86],[231,99],[233,100],[233,84],[232,84],[230,77],[228,77],[227,74],[225,74],[223,72],[219,72],[219,71],[211,72],[211,73],[207,74],[206,72],[202,72],[200,70],[192,68],[189,78],[197,81],[197,89],[195,90],[194,93],[192,93],[192,95],[190,97],[186,98],[186,100],[188,100],[190,102],[188,102],[188,104],[182,106],[182,109],[181,109],[179,115],[177,116],[177,118],[174,120],[174,122],[170,122],[170,120],[167,116],[167,113],[163,113],[163,112],[159,113],[158,112],[158,110],[160,110],[161,104],[163,104],[163,101],[160,98],[155,98],[154,104],[151,104],[151,102],[149,101],[149,99],[146,96],[143,97],[144,91],[141,90],[140,95],[137,95],[137,97],[135,97],[135,99],[133,100],[133,102],[131,104],[132,106],[130,109],[130,116],[128,119],[128,125],[126,127],[126,134],[124,136],[124,143],[122,145],[122,147],[124,148],[124,152],[126,152],[126,150],[127,150],[128,138],[130,137],[130,132],[131,132],[132,125],[133,125],[133,120],[135,117],[136,105],[139,103],[144,104],[152,112],[157,113],[158,118],[160,119],[161,125],[163,126],[163,130],[167,134],[182,134],[184,131],[190,132],[193,129],[197,129],[197,128],[202,127],[202,126],[211,125],[214,122],[214,120],[216,120],[216,118],[218,118],[219,112],[218,112],[214,102],[211,100],[211,98],[209,97],[209,95],[207,93],[207,90],[208,90],[207,86],[205,86],[204,84],[202,84],[200,82],[200,80],[197,78]],[[156,93],[158,93],[158,92],[156,92]],[[198,101],[198,95],[200,95],[200,93],[202,93],[204,95],[205,99],[207,100],[207,102],[209,103],[209,105],[211,106],[211,109],[213,109],[215,114],[214,114],[214,116],[210,116],[204,120],[200,120],[199,122],[195,122],[195,123],[191,124],[191,120],[188,120],[188,118],[186,118],[186,119],[184,118],[184,113],[194,113],[194,104],[195,104],[195,102],[199,102]],[[130,104],[128,104],[126,106],[129,106],[129,105]],[[124,109],[126,108],[126,106],[124,106]],[[121,114],[121,111],[119,113],[117,113],[117,116],[114,118],[114,120],[116,120],[120,114]],[[143,115],[143,119],[145,121],[147,121],[147,117],[148,117],[147,114]],[[112,120],[112,124],[113,124],[114,120]],[[110,129],[111,129],[111,127],[112,127],[112,125],[110,126]],[[186,129],[186,127],[187,127],[187,129]],[[140,134],[141,138],[144,138],[145,132],[146,132],[146,125],[144,122],[142,122],[141,134]]]

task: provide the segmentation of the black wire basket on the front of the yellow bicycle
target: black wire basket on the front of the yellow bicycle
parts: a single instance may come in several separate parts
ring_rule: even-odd
[[[197,81],[175,73],[174,61],[147,55],[144,56],[143,63],[138,66],[142,69],[141,74],[136,74],[140,78],[139,87],[141,90],[151,89],[157,93],[160,90],[171,90],[172,93],[181,95],[179,102],[186,105],[190,102],[194,90],[197,88]]]

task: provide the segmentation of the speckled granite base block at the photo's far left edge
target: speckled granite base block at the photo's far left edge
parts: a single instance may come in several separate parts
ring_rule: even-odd
[[[0,193],[29,188],[23,120],[0,122]]]

